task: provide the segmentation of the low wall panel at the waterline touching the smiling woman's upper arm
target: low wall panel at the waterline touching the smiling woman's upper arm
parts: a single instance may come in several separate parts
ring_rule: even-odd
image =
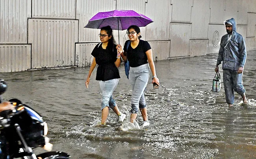
[[[170,53],[170,41],[150,41],[154,61],[168,59]],[[156,58],[157,57],[157,58]]]

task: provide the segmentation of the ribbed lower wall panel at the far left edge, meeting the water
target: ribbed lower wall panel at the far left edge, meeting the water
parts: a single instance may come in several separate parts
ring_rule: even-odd
[[[30,45],[0,45],[0,72],[30,69]]]

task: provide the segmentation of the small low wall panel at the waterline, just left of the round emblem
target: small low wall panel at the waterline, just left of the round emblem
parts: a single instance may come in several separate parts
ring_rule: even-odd
[[[189,55],[191,57],[206,54],[208,54],[208,39],[189,41]]]

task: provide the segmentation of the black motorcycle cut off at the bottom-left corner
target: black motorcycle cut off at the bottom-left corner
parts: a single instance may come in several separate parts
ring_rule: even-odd
[[[0,95],[6,89],[6,82],[0,80]],[[39,113],[20,100],[11,99],[9,102],[15,109],[0,112],[0,159],[69,159],[70,155],[65,152],[35,155],[33,148],[52,149],[50,139],[46,137],[47,124]]]

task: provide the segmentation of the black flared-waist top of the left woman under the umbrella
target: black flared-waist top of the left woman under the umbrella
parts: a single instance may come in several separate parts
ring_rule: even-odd
[[[96,63],[98,64],[96,80],[108,81],[115,78],[120,78],[119,70],[115,66],[117,60],[117,45],[113,48],[102,48],[102,43],[97,44],[93,49],[91,55],[95,57]]]

